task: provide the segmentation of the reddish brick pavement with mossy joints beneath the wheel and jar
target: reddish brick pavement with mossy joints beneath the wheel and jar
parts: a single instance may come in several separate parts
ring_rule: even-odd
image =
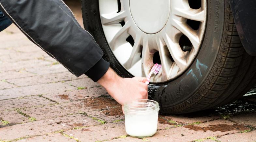
[[[68,4],[82,24],[80,7]],[[130,137],[121,107],[99,84],[74,77],[14,25],[0,37],[0,141],[256,140],[255,109],[234,115],[216,110],[159,115],[154,136]]]

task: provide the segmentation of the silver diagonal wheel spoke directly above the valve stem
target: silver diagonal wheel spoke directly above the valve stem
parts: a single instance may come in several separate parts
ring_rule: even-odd
[[[196,31],[189,27],[186,23],[173,19],[173,26],[178,29],[181,33],[188,37],[195,50],[199,48],[199,37]]]

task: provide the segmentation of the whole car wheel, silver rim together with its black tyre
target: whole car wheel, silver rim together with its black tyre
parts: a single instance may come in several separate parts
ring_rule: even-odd
[[[151,78],[149,98],[162,113],[218,107],[256,80],[228,0],[82,0],[84,28],[121,77]],[[131,89],[131,88],[127,88]]]

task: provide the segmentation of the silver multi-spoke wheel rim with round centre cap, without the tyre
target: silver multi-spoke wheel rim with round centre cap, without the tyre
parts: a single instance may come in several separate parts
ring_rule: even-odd
[[[197,56],[206,26],[206,0],[99,0],[105,38],[118,62],[151,82],[184,73]]]

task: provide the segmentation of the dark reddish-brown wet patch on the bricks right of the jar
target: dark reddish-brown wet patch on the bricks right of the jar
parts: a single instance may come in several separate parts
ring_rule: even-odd
[[[188,128],[190,130],[194,131],[221,131],[221,132],[228,132],[228,131],[245,131],[249,130],[249,128],[243,126],[243,125],[238,125],[238,124],[233,124],[233,125],[227,125],[227,124],[218,124],[218,125],[209,125],[208,127],[199,127],[199,126],[194,126],[194,125],[186,125],[184,126],[185,128]]]

